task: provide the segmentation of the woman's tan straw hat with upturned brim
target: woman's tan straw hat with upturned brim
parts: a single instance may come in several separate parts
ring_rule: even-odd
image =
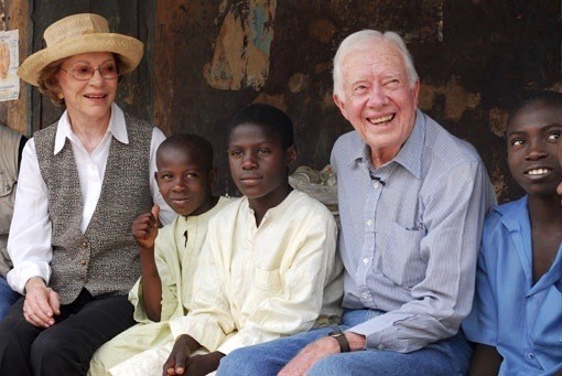
[[[41,71],[48,64],[87,52],[112,52],[119,55],[120,72],[139,65],[144,45],[141,41],[109,32],[107,20],[98,14],[82,13],[56,21],[43,34],[46,47],[25,58],[18,69],[21,79],[39,86]]]

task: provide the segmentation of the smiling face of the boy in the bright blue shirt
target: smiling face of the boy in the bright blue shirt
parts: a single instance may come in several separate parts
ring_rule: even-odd
[[[549,196],[562,180],[558,143],[562,108],[534,101],[507,126],[507,161],[515,180],[528,194]]]

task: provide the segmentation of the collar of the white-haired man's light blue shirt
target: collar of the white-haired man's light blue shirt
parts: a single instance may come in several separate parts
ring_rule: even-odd
[[[413,123],[412,133],[408,137],[408,140],[406,140],[398,154],[390,161],[400,163],[418,179],[421,178],[421,160],[425,143],[425,115],[419,109],[415,110],[415,121]],[[349,164],[364,162],[366,165],[370,165],[370,148],[363,139],[360,140],[361,146],[352,151]]]

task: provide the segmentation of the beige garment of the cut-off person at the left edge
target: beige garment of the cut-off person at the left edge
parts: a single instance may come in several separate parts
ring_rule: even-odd
[[[0,276],[3,278],[12,266],[6,246],[15,200],[20,141],[20,133],[0,126]]]

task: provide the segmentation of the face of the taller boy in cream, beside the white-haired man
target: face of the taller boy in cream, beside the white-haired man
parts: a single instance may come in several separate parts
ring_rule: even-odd
[[[228,163],[238,190],[248,198],[275,198],[287,194],[288,166],[296,150],[283,150],[281,140],[260,126],[245,123],[230,132]]]

